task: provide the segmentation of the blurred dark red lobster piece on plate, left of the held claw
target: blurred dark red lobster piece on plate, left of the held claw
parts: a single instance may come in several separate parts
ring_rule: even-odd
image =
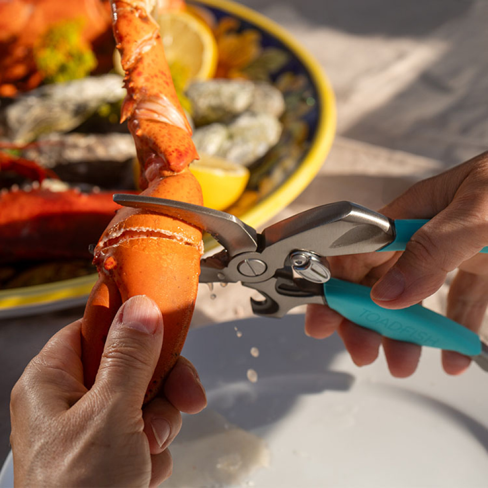
[[[113,194],[43,187],[0,192],[0,264],[90,259],[89,246],[120,208]]]

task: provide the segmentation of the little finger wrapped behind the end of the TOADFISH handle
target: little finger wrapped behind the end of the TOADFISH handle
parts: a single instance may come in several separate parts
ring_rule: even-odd
[[[478,333],[488,306],[488,276],[460,270],[449,287],[447,317]],[[453,351],[442,352],[442,365],[448,374],[460,374],[470,358]]]

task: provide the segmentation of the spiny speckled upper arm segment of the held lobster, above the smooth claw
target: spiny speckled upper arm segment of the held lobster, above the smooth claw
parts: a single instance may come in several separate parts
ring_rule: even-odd
[[[121,121],[129,120],[142,166],[141,185],[198,159],[191,126],[171,78],[158,24],[141,2],[112,2],[114,36],[126,73]],[[155,166],[159,168],[155,169]]]

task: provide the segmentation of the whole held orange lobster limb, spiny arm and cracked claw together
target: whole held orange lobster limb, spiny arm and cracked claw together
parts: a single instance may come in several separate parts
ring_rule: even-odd
[[[200,185],[187,169],[198,158],[164,58],[159,26],[141,0],[112,0],[113,28],[125,70],[128,119],[141,164],[143,195],[202,204]],[[174,218],[123,208],[108,225],[94,254],[99,281],[82,325],[84,381],[91,386],[104,338],[121,303],[145,294],[164,320],[160,360],[145,401],[158,391],[181,352],[198,288],[202,233]]]

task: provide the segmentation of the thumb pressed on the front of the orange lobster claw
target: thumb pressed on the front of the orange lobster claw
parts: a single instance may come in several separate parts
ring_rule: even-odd
[[[148,297],[129,298],[115,316],[92,389],[141,408],[163,345],[163,317]]]

